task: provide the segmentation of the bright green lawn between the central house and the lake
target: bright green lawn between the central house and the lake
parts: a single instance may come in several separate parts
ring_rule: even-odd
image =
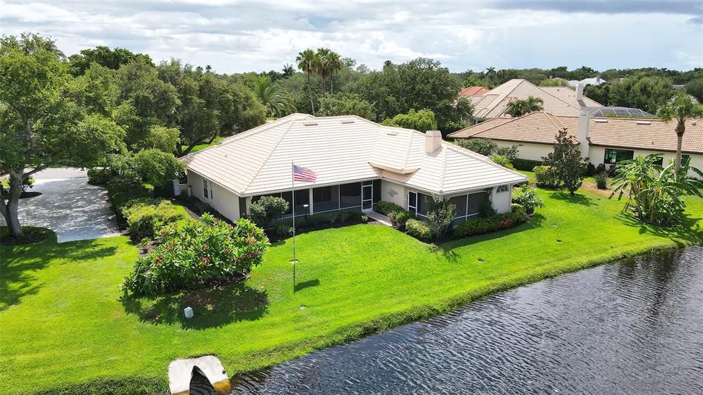
[[[437,252],[384,226],[300,235],[295,293],[290,240],[271,247],[244,284],[127,302],[119,287],[137,250],[126,237],[1,247],[0,382],[5,394],[93,393],[70,391],[84,383],[105,393],[101,380],[113,379],[124,394],[163,390],[174,358],[215,354],[232,375],[496,290],[703,244],[699,199],[689,200],[688,231],[676,232],[640,226],[620,213],[622,202],[595,194],[539,193],[546,208],[528,224]],[[192,320],[182,318],[186,305],[195,308]]]

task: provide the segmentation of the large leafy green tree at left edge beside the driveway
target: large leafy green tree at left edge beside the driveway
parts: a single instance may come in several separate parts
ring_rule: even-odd
[[[95,108],[110,101],[99,98],[101,82],[84,83],[72,84],[50,39],[0,39],[0,174],[9,176],[0,188],[0,213],[13,238],[22,237],[22,183],[33,174],[51,166],[91,167],[108,153],[124,152],[124,131]]]

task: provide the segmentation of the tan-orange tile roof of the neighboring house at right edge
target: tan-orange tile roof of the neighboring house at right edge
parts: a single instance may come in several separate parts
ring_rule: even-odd
[[[451,138],[493,138],[522,143],[554,143],[562,128],[571,134],[579,129],[579,117],[559,117],[548,112],[531,112],[519,118],[489,119],[449,134]],[[676,122],[659,119],[598,118],[588,122],[590,145],[634,148],[662,152],[676,151]],[[703,119],[686,122],[684,153],[703,154]]]

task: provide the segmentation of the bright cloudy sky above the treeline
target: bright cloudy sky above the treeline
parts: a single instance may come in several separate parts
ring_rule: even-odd
[[[104,45],[225,73],[321,46],[371,69],[420,56],[453,72],[703,67],[703,0],[0,0],[0,33],[27,31],[66,55]]]

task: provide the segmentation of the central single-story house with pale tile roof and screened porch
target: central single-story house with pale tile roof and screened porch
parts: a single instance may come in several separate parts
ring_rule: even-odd
[[[291,203],[293,163],[317,176],[315,183],[295,183],[295,216],[370,211],[385,200],[423,217],[449,199],[460,222],[477,215],[486,193],[496,211],[509,212],[512,186],[527,181],[442,141],[439,131],[384,127],[356,116],[289,115],[182,160],[191,194],[233,221],[263,195]],[[292,207],[284,218],[291,216]]]

